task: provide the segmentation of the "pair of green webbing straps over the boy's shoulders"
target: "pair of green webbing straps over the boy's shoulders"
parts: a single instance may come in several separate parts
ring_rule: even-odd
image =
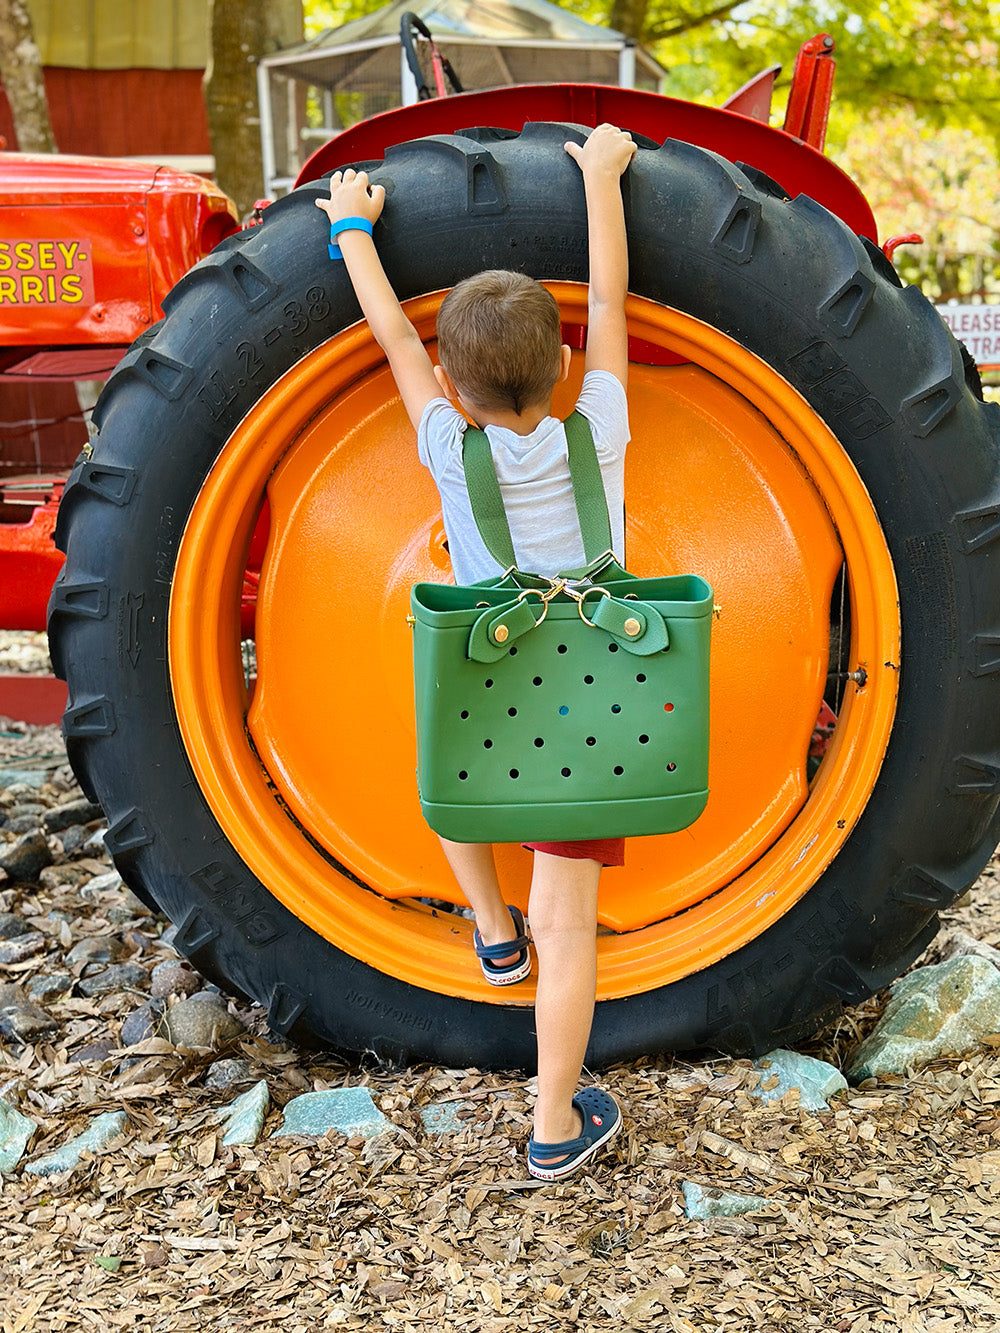
[[[591,564],[611,551],[608,497],[604,493],[591,423],[581,412],[571,412],[564,425],[576,517],[584,555]],[[509,569],[517,561],[485,431],[468,427],[461,441],[461,463],[479,535],[493,560]]]

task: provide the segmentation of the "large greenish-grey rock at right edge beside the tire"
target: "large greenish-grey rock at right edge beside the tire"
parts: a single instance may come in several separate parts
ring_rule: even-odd
[[[893,982],[873,1032],[844,1070],[853,1082],[919,1069],[939,1056],[961,1056],[1000,1032],[1000,970],[963,954],[916,968]]]

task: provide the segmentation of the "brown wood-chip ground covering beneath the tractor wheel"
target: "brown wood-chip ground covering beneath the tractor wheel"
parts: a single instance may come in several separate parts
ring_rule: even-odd
[[[51,729],[8,734],[0,766],[52,745]],[[67,769],[55,777],[60,802],[79,797]],[[103,853],[96,861],[93,873],[111,868]],[[0,910],[51,936],[47,953],[0,968],[0,982],[63,968],[61,949],[87,934],[117,934],[148,966],[173,957],[159,938],[165,921],[137,906],[133,920],[109,917],[121,893],[88,897],[88,873],[51,889],[0,882]],[[999,861],[919,961],[935,961],[957,928],[1000,944]],[[29,1156],[100,1112],[124,1109],[128,1130],[72,1174],[0,1177],[3,1333],[1000,1325],[996,1046],[869,1080],[820,1113],[801,1110],[795,1093],[753,1101],[759,1074],[747,1060],[623,1065],[603,1076],[627,1116],[615,1149],[593,1174],[540,1186],[523,1165],[524,1080],[349,1068],[271,1040],[263,1014],[236,1004],[247,1033],[217,1050],[152,1038],[73,1062],[100,1037],[116,1044],[145,998],[73,990],[44,1001],[59,1021],[52,1040],[0,1040],[0,1096],[39,1122]],[[843,1065],[884,1001],[847,1012],[800,1049]],[[291,1097],[343,1084],[367,1085],[395,1132],[223,1148],[215,1108],[248,1085],[204,1086],[220,1056],[243,1056],[267,1080],[265,1134]],[[464,1129],[431,1137],[419,1108],[443,1098],[469,1104]],[[689,1221],[684,1180],[764,1194],[767,1206]]]

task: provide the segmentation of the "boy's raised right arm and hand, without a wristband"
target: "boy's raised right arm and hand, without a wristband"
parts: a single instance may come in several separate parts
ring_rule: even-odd
[[[628,383],[628,241],[621,204],[621,176],[636,153],[632,137],[615,125],[597,125],[585,144],[565,144],[580,167],[587,195],[591,295],[587,325],[587,369],[609,371]]]

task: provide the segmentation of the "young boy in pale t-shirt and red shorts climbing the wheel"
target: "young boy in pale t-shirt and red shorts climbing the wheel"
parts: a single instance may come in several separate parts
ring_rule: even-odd
[[[587,373],[576,408],[591,425],[613,549],[624,560],[628,251],[620,179],[636,145],[613,125],[599,125],[583,147],[568,143],[565,151],[583,172],[589,231]],[[383,187],[369,187],[365,172],[335,172],[329,192],[316,205],[333,224],[347,219],[375,224],[385,201]],[[571,351],[561,344],[559,309],[549,293],[532,279],[505,271],[460,283],[439,312],[441,365],[432,365],[389,287],[371,235],[345,229],[336,240],[417,432],[420,460],[440,491],[456,583],[500,573],[479,535],[465,489],[461,440],[467,417],[489,440],[519,568],[555,575],[583,565],[565,429],[551,416],[552,393],[569,373]],[[600,1088],[577,1096],[576,1085],[593,1022],[597,885],[604,865],[623,864],[624,842],[529,845],[535,852],[529,910],[539,958],[539,1093],[528,1170],[557,1180],[579,1169],[621,1128],[613,1097]],[[516,908],[504,904],[492,846],[445,838],[441,846],[476,914],[476,952],[487,980],[520,981],[531,966],[524,922]]]

